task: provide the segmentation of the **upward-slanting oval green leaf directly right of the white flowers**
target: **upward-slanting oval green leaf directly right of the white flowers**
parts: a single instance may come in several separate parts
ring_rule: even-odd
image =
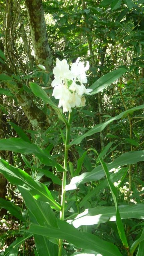
[[[126,71],[126,69],[120,68],[102,76],[90,86],[90,88],[93,89],[91,94],[93,95],[101,92],[106,86],[112,84],[117,79],[119,79]]]

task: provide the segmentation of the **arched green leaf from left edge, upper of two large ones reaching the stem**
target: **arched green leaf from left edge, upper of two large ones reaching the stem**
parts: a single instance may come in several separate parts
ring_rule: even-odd
[[[40,149],[37,145],[28,143],[19,138],[0,140],[0,150],[9,150],[24,155],[34,154],[42,164],[53,166],[58,171],[63,171],[63,167],[57,164],[46,150]]]

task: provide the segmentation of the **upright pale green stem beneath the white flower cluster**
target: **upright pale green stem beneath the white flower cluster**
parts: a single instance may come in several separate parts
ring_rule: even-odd
[[[65,206],[65,185],[66,185],[66,171],[67,171],[67,158],[68,158],[68,149],[69,149],[69,133],[70,133],[70,113],[68,116],[68,124],[66,125],[66,137],[65,137],[65,145],[64,145],[64,164],[62,175],[62,188],[61,188],[61,211],[60,211],[60,220],[64,219],[64,206]],[[62,256],[62,239],[59,239],[59,247],[58,247],[58,256]]]

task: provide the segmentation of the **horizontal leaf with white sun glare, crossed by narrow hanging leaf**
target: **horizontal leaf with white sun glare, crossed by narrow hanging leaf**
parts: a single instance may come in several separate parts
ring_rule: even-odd
[[[118,206],[121,219],[144,219],[144,204],[120,205]],[[77,217],[70,221],[75,228],[82,225],[94,225],[105,223],[107,221],[116,221],[116,208],[114,206],[97,206],[86,209]],[[69,221],[68,221],[69,223]]]

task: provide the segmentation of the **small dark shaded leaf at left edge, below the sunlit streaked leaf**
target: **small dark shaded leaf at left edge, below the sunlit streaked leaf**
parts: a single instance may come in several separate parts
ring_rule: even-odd
[[[6,201],[3,198],[0,198],[0,207],[7,209],[11,215],[15,216],[17,219],[24,221],[24,218],[21,216],[21,208],[15,205],[10,201]]]

